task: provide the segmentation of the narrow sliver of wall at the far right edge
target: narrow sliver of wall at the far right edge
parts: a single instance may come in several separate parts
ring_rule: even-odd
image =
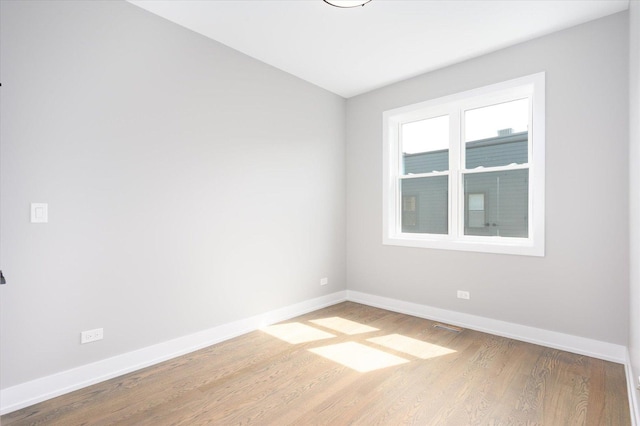
[[[629,353],[638,380],[640,374],[640,2],[630,2],[629,35],[631,54],[630,66],[630,137],[629,137],[629,217],[630,217],[630,319],[629,319]],[[636,389],[637,382],[632,386]],[[636,401],[640,400],[640,392],[636,392]],[[636,407],[638,409],[638,407]],[[637,414],[640,415],[640,412]],[[640,418],[638,419],[640,421]]]

